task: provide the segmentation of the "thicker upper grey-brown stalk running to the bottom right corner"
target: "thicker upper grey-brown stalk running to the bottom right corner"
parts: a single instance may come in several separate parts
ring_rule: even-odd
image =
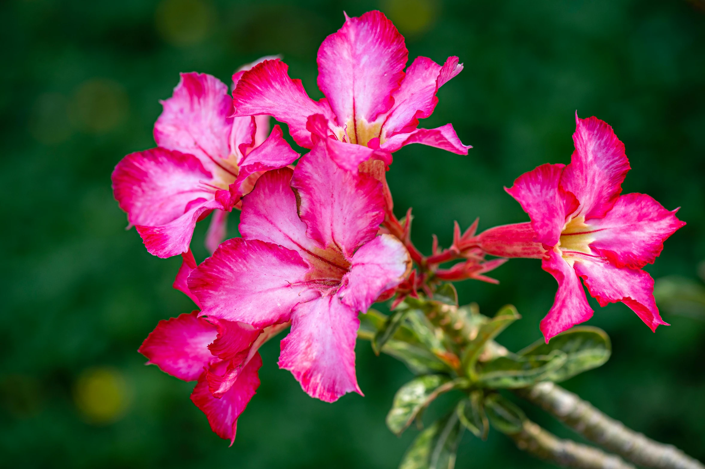
[[[608,451],[644,468],[705,469],[705,465],[670,444],[655,442],[608,417],[589,402],[553,382],[541,382],[515,393]]]

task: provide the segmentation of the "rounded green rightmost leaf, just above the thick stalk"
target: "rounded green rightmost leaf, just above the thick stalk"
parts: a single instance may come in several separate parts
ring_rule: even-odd
[[[565,363],[546,374],[544,380],[560,382],[603,365],[610,358],[612,346],[605,331],[598,327],[580,326],[558,334],[548,344],[540,339],[518,355],[529,358],[545,356],[554,351],[566,354]]]

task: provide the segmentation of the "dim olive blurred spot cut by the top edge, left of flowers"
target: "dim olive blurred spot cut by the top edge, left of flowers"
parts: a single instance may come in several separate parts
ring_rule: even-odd
[[[208,36],[215,14],[213,6],[204,0],[162,0],[155,19],[166,42],[190,46]]]

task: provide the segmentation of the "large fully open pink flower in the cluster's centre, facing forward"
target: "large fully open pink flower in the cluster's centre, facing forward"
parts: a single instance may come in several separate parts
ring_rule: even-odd
[[[320,142],[294,171],[259,178],[243,199],[243,237],[223,242],[188,288],[209,318],[262,328],[291,321],[279,366],[309,395],[332,402],[362,394],[357,312],[400,284],[411,265],[396,237],[376,236],[383,219],[381,183],[338,166]]]

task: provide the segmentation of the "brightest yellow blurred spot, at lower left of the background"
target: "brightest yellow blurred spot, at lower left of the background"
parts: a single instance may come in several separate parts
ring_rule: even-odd
[[[128,397],[123,376],[108,367],[83,371],[74,389],[76,407],[85,420],[98,425],[119,420],[128,406]]]

